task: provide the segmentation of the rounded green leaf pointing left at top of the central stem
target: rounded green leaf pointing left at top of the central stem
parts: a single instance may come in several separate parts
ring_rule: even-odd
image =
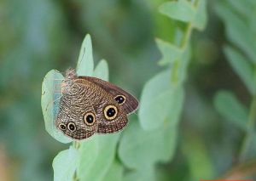
[[[188,1],[162,3],[159,11],[174,20],[183,22],[190,22],[195,17],[195,8]]]

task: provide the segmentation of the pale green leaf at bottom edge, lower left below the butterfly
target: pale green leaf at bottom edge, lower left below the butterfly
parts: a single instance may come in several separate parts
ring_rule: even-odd
[[[53,161],[54,180],[72,181],[79,161],[79,152],[72,146],[61,151]]]

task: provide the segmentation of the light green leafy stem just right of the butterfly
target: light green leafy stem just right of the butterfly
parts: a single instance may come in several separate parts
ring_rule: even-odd
[[[185,23],[186,28],[181,32],[183,37],[177,44],[157,40],[163,56],[160,65],[167,68],[150,79],[143,88],[138,115],[141,128],[137,127],[137,133],[131,132],[129,135],[132,128],[129,127],[120,141],[120,159],[127,167],[137,168],[141,180],[148,180],[144,167],[154,169],[156,163],[171,161],[176,150],[177,126],[183,108],[183,82],[190,59],[189,40],[193,29],[203,29],[207,20],[204,0],[167,2],[161,4],[159,9],[161,14]],[[131,135],[137,136],[132,143]],[[137,150],[138,145],[142,145],[143,149]],[[132,150],[136,150],[134,154],[131,154]]]

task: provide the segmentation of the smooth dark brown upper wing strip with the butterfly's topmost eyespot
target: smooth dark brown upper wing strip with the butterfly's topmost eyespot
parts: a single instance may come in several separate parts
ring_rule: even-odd
[[[110,82],[103,81],[102,79],[91,77],[91,76],[79,76],[84,80],[95,83],[100,88],[104,89],[106,92],[110,93],[113,99],[123,99],[125,102],[119,104],[124,110],[125,114],[131,114],[138,107],[138,101],[130,93],[127,93],[125,90],[113,85]],[[117,101],[116,100],[116,101]]]

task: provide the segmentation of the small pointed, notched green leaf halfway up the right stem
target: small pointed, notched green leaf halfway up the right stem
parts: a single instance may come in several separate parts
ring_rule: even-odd
[[[159,38],[157,38],[155,41],[162,54],[162,59],[159,61],[160,65],[170,65],[175,60],[180,59],[181,54],[183,53],[180,48],[169,42],[162,41]]]

